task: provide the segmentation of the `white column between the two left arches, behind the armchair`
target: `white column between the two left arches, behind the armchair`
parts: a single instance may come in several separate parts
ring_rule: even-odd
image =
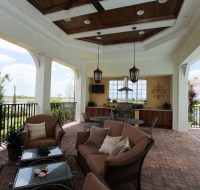
[[[52,59],[44,54],[30,52],[36,65],[35,101],[37,114],[48,114],[50,110]]]

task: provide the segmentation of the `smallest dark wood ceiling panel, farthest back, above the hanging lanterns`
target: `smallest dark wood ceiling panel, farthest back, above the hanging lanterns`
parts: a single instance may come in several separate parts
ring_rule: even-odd
[[[92,37],[85,37],[85,38],[78,38],[78,40],[83,40],[86,42],[101,44],[101,45],[113,45],[113,44],[121,44],[121,43],[130,43],[130,42],[142,42],[163,30],[164,28],[157,28],[157,29],[147,29],[143,30],[144,34],[139,34],[140,31],[131,31],[131,32],[122,32],[122,33],[115,33],[115,34],[107,34],[107,35],[100,35],[101,39],[97,40],[97,36]]]

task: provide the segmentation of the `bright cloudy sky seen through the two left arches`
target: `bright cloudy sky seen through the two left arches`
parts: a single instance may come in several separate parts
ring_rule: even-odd
[[[35,96],[36,67],[26,49],[0,39],[0,72],[12,79],[6,84],[6,96],[13,96],[14,86],[16,95]],[[70,68],[53,62],[51,81],[51,96],[73,96],[74,72]]]

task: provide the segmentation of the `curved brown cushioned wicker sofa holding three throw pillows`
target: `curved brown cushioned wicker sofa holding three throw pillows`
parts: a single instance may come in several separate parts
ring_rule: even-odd
[[[137,127],[120,121],[106,120],[103,128],[110,128],[109,136],[128,137],[131,149],[117,156],[109,156],[99,152],[99,147],[86,143],[90,131],[78,132],[76,148],[79,165],[85,173],[92,171],[102,176],[110,187],[132,182],[137,189],[141,189],[142,164],[154,140]]]

